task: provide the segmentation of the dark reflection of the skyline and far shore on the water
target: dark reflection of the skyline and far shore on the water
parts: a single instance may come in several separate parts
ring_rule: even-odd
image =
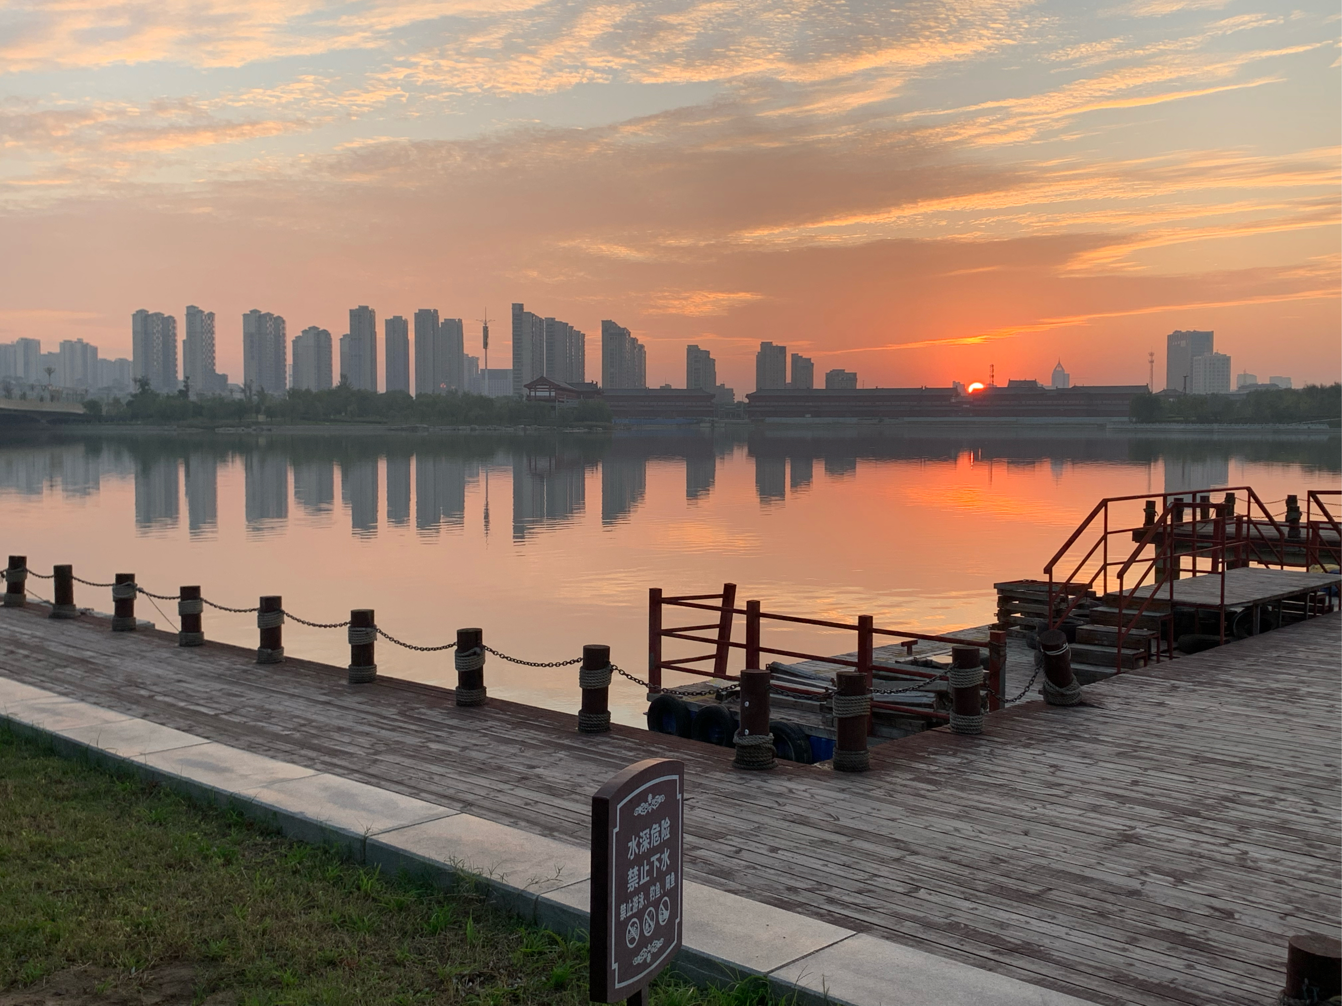
[[[1322,473],[1325,482],[1342,469],[1335,439],[1232,443],[1057,433],[882,436],[855,431],[568,439],[333,435],[187,440],[46,435],[0,443],[0,492],[32,498],[59,492],[76,500],[97,498],[103,479],[133,478],[134,527],[140,534],[157,535],[178,527],[185,487],[188,534],[211,538],[228,520],[227,507],[220,514],[220,482],[240,476],[246,531],[266,535],[287,524],[290,476],[301,512],[330,514],[338,467],[341,502],[356,537],[373,538],[384,530],[384,491],[386,530],[408,528],[413,515],[415,530],[432,537],[467,526],[470,494],[483,488],[493,473],[494,506],[501,498],[503,506],[511,500],[511,538],[523,543],[538,531],[584,518],[589,478],[600,478],[600,522],[612,527],[633,519],[647,504],[650,463],[683,465],[684,499],[701,504],[722,491],[719,468],[735,464],[738,457],[753,467],[754,498],[761,507],[786,506],[790,498],[813,492],[817,460],[827,480],[860,482],[867,465],[969,463],[1000,464],[998,471],[1011,476],[1051,478],[1055,484],[1079,478],[1072,473],[1080,471],[1078,465],[1102,463],[1146,469],[1143,488],[1168,492],[1245,480],[1245,471],[1257,464],[1300,465]],[[476,520],[488,520],[486,499],[475,514]]]

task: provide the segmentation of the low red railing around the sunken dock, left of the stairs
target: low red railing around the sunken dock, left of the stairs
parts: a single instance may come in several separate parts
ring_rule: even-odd
[[[778,657],[793,657],[796,660],[819,660],[825,664],[837,664],[839,667],[851,667],[862,671],[867,679],[868,687],[872,683],[875,668],[875,637],[876,636],[891,636],[898,640],[903,640],[909,647],[910,652],[913,645],[919,641],[926,642],[946,642],[950,645],[960,647],[980,647],[989,652],[989,685],[997,692],[997,696],[1005,692],[1005,667],[1007,667],[1007,653],[1005,653],[1005,634],[1001,640],[966,640],[958,636],[935,636],[922,632],[909,632],[905,629],[882,629],[876,628],[875,620],[870,614],[863,614],[858,617],[856,622],[836,622],[824,618],[804,618],[794,614],[778,614],[774,612],[765,612],[758,601],[746,601],[745,608],[735,606],[737,585],[723,583],[722,592],[717,594],[682,594],[678,597],[667,597],[662,593],[660,588],[652,588],[648,592],[648,689],[652,692],[662,691],[662,672],[663,671],[679,671],[687,675],[699,675],[702,677],[718,677],[729,681],[739,680],[739,675],[731,675],[727,671],[729,655],[733,649],[743,651],[745,661],[743,667],[757,668],[762,667],[761,656],[770,655]],[[714,604],[715,602],[715,604]],[[688,608],[701,612],[713,612],[718,616],[717,621],[705,622],[701,625],[674,625],[666,626],[663,622],[666,608]],[[745,616],[745,641],[738,642],[733,638],[733,626],[737,616]],[[858,633],[858,648],[856,660],[840,656],[829,656],[824,653],[805,653],[794,649],[782,649],[780,647],[768,647],[762,641],[762,629],[765,622],[784,622],[792,625],[812,625],[821,629],[839,629],[845,632]],[[698,633],[706,632],[709,629],[715,629],[714,636],[701,636]],[[711,645],[714,649],[711,653],[703,653],[691,657],[678,657],[675,660],[668,660],[663,653],[663,640],[680,640],[687,642],[703,642]],[[713,661],[713,669],[706,671],[696,664],[703,664],[706,661]],[[907,675],[910,677],[927,679],[931,680],[938,675],[931,671],[902,667],[899,673]],[[782,691],[792,691],[797,695],[807,695],[815,689],[808,689],[804,685],[790,685],[776,683],[777,688]],[[989,692],[989,710],[998,708],[1000,699]],[[887,703],[883,700],[876,700],[872,703],[875,708],[890,710],[894,712],[907,712],[917,716],[930,716],[934,719],[946,719],[946,714],[930,712],[929,710],[918,710],[898,706],[894,703]]]

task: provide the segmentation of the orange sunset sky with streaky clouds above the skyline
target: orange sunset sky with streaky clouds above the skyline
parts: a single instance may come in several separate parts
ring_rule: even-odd
[[[0,0],[0,339],[513,302],[754,388],[1342,376],[1335,3]]]

